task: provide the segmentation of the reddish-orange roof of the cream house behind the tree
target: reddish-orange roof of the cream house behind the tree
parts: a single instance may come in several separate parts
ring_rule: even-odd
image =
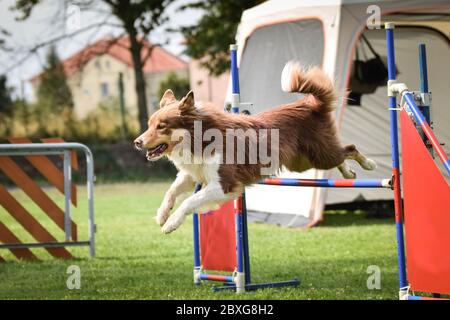
[[[133,60],[129,50],[130,39],[128,36],[121,38],[103,38],[78,51],[74,55],[62,61],[66,76],[70,77],[82,69],[92,58],[108,54],[124,64],[132,67]],[[144,40],[141,57],[145,58],[152,44]],[[173,55],[160,46],[155,46],[151,56],[145,61],[144,73],[161,72],[169,70],[185,69],[187,62]],[[38,80],[41,74],[36,75],[31,81]]]

